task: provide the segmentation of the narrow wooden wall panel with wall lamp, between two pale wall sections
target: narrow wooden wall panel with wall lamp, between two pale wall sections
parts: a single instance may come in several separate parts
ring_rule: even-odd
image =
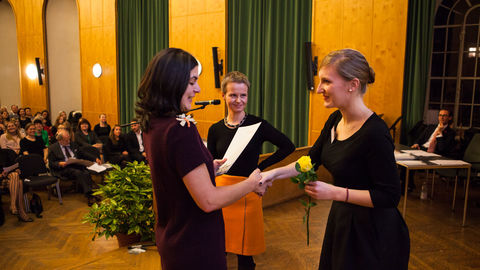
[[[27,77],[26,68],[35,64],[35,57],[46,67],[45,32],[44,32],[44,0],[9,0],[15,14],[17,24],[17,46],[20,69],[21,105],[37,111],[48,108],[48,81],[43,85],[38,80]],[[47,68],[45,68],[48,71]],[[44,77],[44,79],[46,76]]]

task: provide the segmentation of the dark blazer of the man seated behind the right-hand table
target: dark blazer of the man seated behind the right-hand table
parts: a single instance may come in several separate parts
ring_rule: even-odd
[[[428,125],[414,143],[420,145],[420,148],[428,141],[432,133],[435,131],[438,125]],[[448,156],[453,152],[455,148],[455,130],[447,126],[442,131],[442,137],[437,138],[437,145],[435,146],[435,153],[439,155]],[[424,149],[425,150],[425,149]]]

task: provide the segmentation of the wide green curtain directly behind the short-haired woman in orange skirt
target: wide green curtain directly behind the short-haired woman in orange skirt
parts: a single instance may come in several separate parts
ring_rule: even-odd
[[[228,71],[250,82],[247,113],[307,145],[309,92],[304,43],[311,40],[312,2],[228,1]],[[264,152],[272,152],[272,145]]]

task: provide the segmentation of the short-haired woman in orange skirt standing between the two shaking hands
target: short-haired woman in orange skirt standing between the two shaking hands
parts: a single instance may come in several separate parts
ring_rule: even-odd
[[[208,131],[207,147],[214,159],[226,162],[217,172],[217,186],[241,183],[256,168],[263,170],[295,150],[283,133],[267,121],[245,112],[250,82],[244,74],[233,71],[222,81],[227,116]],[[258,164],[262,144],[271,142],[279,149]],[[223,208],[226,251],[238,255],[239,269],[254,269],[252,255],[265,251],[262,200],[253,193]]]

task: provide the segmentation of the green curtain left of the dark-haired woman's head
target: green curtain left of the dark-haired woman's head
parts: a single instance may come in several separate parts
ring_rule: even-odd
[[[119,0],[117,14],[120,123],[128,123],[145,68],[168,47],[168,0]]]

